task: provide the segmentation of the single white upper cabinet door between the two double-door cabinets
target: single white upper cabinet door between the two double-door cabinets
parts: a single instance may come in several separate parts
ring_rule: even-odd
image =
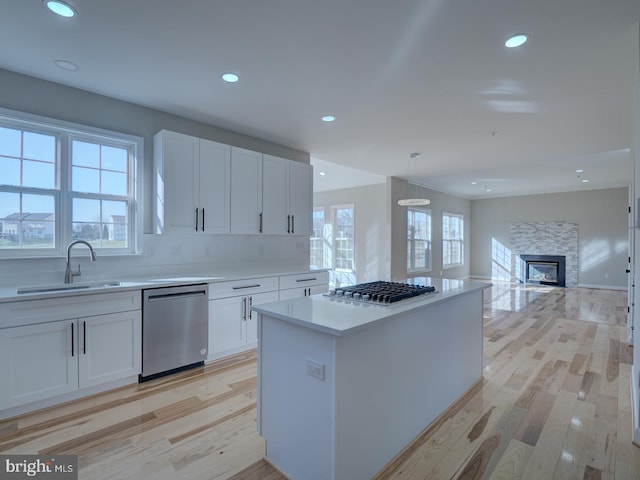
[[[231,233],[261,233],[262,154],[231,147]]]

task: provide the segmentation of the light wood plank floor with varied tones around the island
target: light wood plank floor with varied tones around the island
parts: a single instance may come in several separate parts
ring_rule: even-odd
[[[484,382],[377,478],[640,479],[625,323],[626,292],[494,286]],[[255,420],[249,352],[0,421],[0,453],[76,454],[82,480],[281,480]]]

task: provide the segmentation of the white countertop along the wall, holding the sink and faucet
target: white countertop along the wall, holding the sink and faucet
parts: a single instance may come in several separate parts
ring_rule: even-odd
[[[105,280],[92,280],[90,282],[77,281],[70,285],[65,285],[60,282],[55,285],[20,285],[11,287],[0,287],[0,303],[17,302],[25,300],[36,300],[41,298],[56,298],[56,297],[68,297],[73,295],[89,295],[96,293],[108,293],[118,292],[124,290],[141,290],[143,288],[159,288],[166,286],[179,286],[179,285],[194,285],[198,283],[217,283],[231,280],[251,279],[260,277],[273,277],[282,275],[295,275],[303,274],[307,272],[323,272],[325,269],[319,270],[294,270],[294,271],[225,271],[216,272],[211,274],[199,274],[197,276],[171,276],[162,275],[160,278],[126,278],[126,279],[105,279]],[[106,284],[111,282],[117,282],[118,285]],[[64,288],[65,286],[75,286],[78,288],[54,290],[55,288]],[[37,289],[37,288],[52,288],[46,292],[31,292],[31,293],[18,293],[19,289]]]

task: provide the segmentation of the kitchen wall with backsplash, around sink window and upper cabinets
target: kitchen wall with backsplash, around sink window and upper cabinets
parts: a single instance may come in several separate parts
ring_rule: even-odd
[[[309,267],[308,238],[239,235],[152,234],[153,135],[167,129],[269,153],[303,163],[308,153],[194,122],[168,113],[0,69],[0,107],[144,138],[142,255],[100,257],[89,262],[74,251],[78,281],[163,275],[168,272],[233,272],[247,267],[300,270]],[[99,255],[99,253],[98,253]],[[0,260],[0,285],[58,283],[64,279],[62,258]]]

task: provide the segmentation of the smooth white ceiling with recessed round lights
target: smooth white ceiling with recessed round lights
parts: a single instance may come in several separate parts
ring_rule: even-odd
[[[467,198],[632,176],[638,0],[69,3],[0,0],[0,67]]]

